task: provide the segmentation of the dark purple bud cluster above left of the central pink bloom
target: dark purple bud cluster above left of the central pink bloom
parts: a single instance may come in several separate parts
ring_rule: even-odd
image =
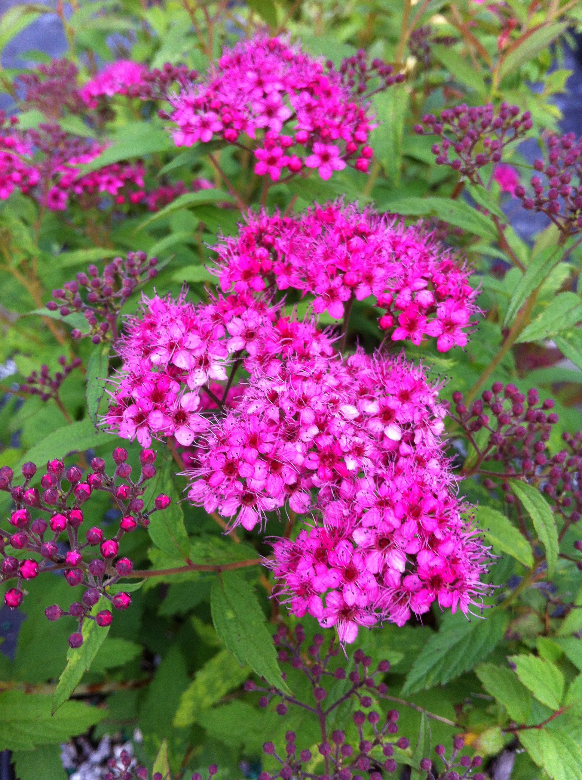
[[[108,263],[99,274],[96,265],[91,264],[87,272],[81,271],[76,279],[66,282],[62,289],[52,291],[55,300],[47,303],[50,311],[59,310],[62,317],[80,312],[89,325],[89,332],[83,334],[78,328],[71,332],[73,339],[90,335],[93,344],[118,338],[118,317],[125,301],[146,282],[157,276],[157,257],[147,259],[145,252],[128,252],[125,262],[122,257]],[[86,289],[83,300],[80,289]]]

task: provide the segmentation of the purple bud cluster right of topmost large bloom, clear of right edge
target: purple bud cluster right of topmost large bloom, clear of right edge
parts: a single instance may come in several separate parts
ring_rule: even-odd
[[[422,117],[422,125],[414,125],[414,133],[439,136],[440,144],[433,144],[432,154],[437,165],[450,165],[472,184],[483,184],[479,168],[501,161],[503,149],[513,141],[523,139],[533,126],[531,113],[520,116],[517,105],[502,103],[496,112],[491,103],[446,108],[440,119],[432,114]],[[449,154],[454,152],[453,159]]]

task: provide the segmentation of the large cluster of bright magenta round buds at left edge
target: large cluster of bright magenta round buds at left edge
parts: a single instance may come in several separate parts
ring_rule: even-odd
[[[13,533],[0,530],[0,582],[17,580],[16,587],[5,592],[5,604],[11,608],[22,604],[26,580],[34,580],[45,572],[64,571],[70,586],[85,587],[83,598],[74,601],[67,612],[58,605],[52,605],[45,614],[51,621],[62,615],[71,615],[79,621],[79,631],[69,636],[71,647],[83,644],[80,631],[83,619],[94,619],[99,626],[111,623],[113,615],[109,609],[90,615],[101,598],[107,599],[115,609],[129,607],[131,597],[128,593],[111,595],[107,590],[132,573],[133,564],[129,558],[118,558],[119,542],[124,534],[136,530],[138,526],[147,527],[150,514],[157,509],[167,509],[171,502],[171,498],[164,494],[155,498],[152,509],[147,510],[143,502],[146,482],[156,475],[153,466],[156,453],[153,450],[143,449],[139,453],[141,474],[135,482],[127,459],[127,450],[121,447],[114,450],[116,468],[112,477],[105,473],[105,462],[101,458],[91,460],[91,471],[86,474],[79,466],[65,470],[62,460],[49,460],[46,473],[41,477],[41,491],[31,487],[37,473],[34,463],[25,463],[22,467],[22,485],[12,484],[14,473],[9,466],[0,469],[0,490],[9,492],[14,502],[8,519]],[[82,506],[90,500],[93,491],[108,492],[115,509],[122,514],[117,534],[111,539],[105,539],[99,527],[86,530],[84,541],[79,536],[84,520]],[[21,554],[19,558],[9,555],[10,547]],[[85,559],[83,551],[90,553],[90,560]],[[40,560],[23,558],[26,553],[33,553]]]

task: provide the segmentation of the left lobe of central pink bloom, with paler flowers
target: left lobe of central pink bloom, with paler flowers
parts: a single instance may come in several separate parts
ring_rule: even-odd
[[[205,431],[203,411],[224,406],[209,382],[226,380],[231,353],[256,355],[275,310],[252,296],[229,296],[194,306],[184,296],[143,298],[141,315],[129,318],[116,349],[123,373],[111,391],[105,424],[143,447],[153,436],[174,436],[188,447]],[[213,402],[201,402],[200,388]],[[230,388],[229,388],[230,389]]]

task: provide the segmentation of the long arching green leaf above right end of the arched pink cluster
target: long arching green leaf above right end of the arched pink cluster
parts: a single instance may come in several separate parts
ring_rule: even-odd
[[[384,211],[418,217],[438,217],[443,222],[456,225],[475,236],[495,241],[497,231],[489,217],[476,211],[464,200],[442,197],[405,197],[382,204]]]

